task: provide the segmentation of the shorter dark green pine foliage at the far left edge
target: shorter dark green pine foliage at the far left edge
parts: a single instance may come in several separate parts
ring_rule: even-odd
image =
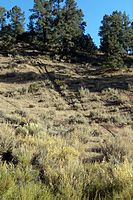
[[[10,11],[0,7],[0,50],[9,52],[24,32],[24,13],[14,6]]]

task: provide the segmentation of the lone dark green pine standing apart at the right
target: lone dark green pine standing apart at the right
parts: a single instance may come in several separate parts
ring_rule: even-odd
[[[107,65],[120,67],[122,56],[127,53],[130,43],[130,21],[125,13],[114,11],[112,15],[103,17],[99,36],[101,50],[106,54]]]

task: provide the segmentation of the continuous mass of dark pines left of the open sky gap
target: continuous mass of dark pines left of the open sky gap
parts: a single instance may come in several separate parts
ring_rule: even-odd
[[[28,42],[41,51],[70,58],[77,53],[92,55],[95,45],[85,35],[83,12],[75,0],[34,0],[28,31],[24,32],[25,16],[21,8],[10,11],[0,7],[0,41],[2,50],[13,49],[17,42]]]

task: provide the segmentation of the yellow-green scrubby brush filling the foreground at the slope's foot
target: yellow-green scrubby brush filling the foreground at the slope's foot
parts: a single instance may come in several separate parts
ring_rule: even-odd
[[[1,126],[2,199],[133,198],[133,164],[128,155],[128,145],[133,140],[130,132],[126,133],[130,138],[126,144],[120,134],[112,141],[106,140],[100,150],[104,153],[102,162],[99,159],[91,163],[84,159],[89,131],[50,136],[38,131],[38,126],[29,123],[19,132]]]

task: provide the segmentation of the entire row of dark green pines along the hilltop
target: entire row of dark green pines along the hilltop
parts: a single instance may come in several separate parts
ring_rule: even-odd
[[[73,56],[94,55],[97,47],[85,33],[83,11],[75,0],[34,0],[28,29],[20,7],[11,10],[0,6],[0,50],[11,51],[18,42],[27,42],[44,52]],[[101,22],[100,50],[108,65],[122,65],[123,55],[133,46],[133,22],[125,12],[114,11]]]

